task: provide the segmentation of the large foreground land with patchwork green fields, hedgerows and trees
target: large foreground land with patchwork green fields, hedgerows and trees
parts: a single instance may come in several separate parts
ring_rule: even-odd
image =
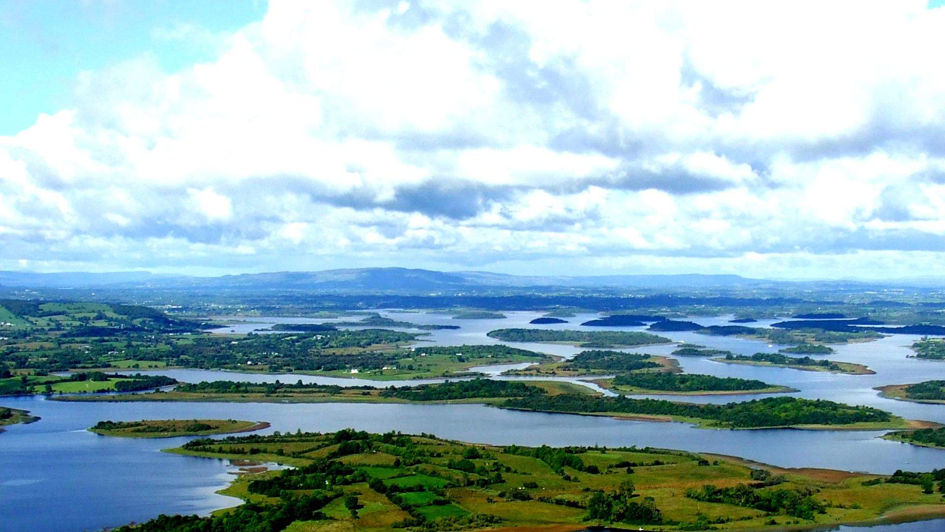
[[[221,493],[243,505],[117,532],[753,530],[945,515],[929,488],[941,486],[939,471],[792,470],[651,448],[499,447],[350,429],[200,438],[168,452],[294,469],[237,477]]]

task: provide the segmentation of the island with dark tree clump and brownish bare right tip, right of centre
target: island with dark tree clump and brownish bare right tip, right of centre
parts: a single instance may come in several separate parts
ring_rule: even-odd
[[[679,364],[668,357],[595,349],[581,351],[569,360],[535,364],[524,369],[510,369],[503,375],[585,377],[641,371],[680,370]]]

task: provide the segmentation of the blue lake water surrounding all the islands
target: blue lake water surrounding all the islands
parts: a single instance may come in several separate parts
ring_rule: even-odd
[[[580,328],[594,315],[568,318],[568,324],[531,326],[540,314],[509,312],[505,320],[455,320],[443,314],[386,311],[393,319],[420,324],[459,325],[456,330],[434,330],[424,342],[458,346],[498,344],[486,336],[494,328]],[[724,324],[728,317],[695,318],[703,325]],[[273,323],[323,323],[328,320],[296,318],[254,319],[223,331],[248,332]],[[752,324],[764,326],[771,321]],[[612,330],[614,328],[606,328]],[[616,328],[641,330],[642,328]],[[674,341],[729,349],[750,354],[775,351],[776,346],[692,332],[661,333]],[[701,358],[680,357],[683,369],[721,377],[760,379],[792,386],[800,397],[868,404],[897,415],[945,422],[945,406],[881,399],[873,386],[945,379],[945,363],[908,359],[915,337],[896,335],[878,342],[837,346],[832,360],[867,364],[870,376],[845,376],[783,368],[720,364]],[[509,344],[570,357],[579,348],[545,344]],[[668,354],[675,346],[648,346],[630,351]],[[521,366],[521,364],[519,364]],[[503,367],[489,366],[490,375]],[[165,370],[180,381],[302,381],[387,386],[423,381],[366,381],[311,376],[278,376],[205,370]],[[666,398],[667,396],[662,396]],[[728,402],[756,396],[680,398]],[[688,451],[743,456],[784,467],[821,467],[889,473],[897,469],[931,470],[945,467],[945,452],[878,438],[881,432],[815,432],[797,430],[713,431],[683,423],[655,423],[570,415],[515,412],[483,405],[404,404],[276,404],[276,403],[70,403],[38,397],[3,398],[0,405],[22,408],[43,417],[37,423],[14,425],[0,434],[0,529],[98,530],[159,513],[206,514],[238,501],[215,494],[226,487],[235,470],[227,461],[178,456],[160,452],[187,438],[160,440],[112,438],[88,433],[103,419],[241,418],[268,421],[263,431],[335,431],[353,427],[376,432],[426,432],[467,441],[521,445],[654,446]],[[945,530],[945,522],[905,523],[872,527],[890,530]],[[851,528],[851,530],[861,530]]]

